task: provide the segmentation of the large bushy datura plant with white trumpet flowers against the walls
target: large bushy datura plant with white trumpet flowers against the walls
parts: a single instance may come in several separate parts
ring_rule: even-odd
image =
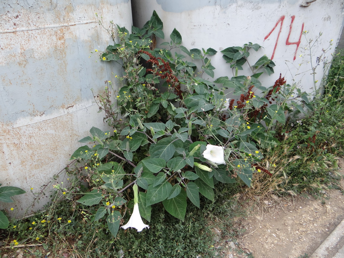
[[[87,145],[71,158],[84,162],[78,176],[90,188],[77,202],[97,205],[90,220],[105,219],[114,236],[123,221],[123,229],[149,228],[141,216],[150,222],[152,205],[183,221],[187,203],[200,207],[200,195],[214,201],[218,183],[240,179],[250,186],[253,173],[270,174],[264,151],[279,144],[287,113],[308,104],[305,93],[281,75],[274,85],[261,84],[258,77],[272,75],[275,64],[265,55],[248,64],[260,45],[221,51],[234,76],[214,80],[211,56],[217,51],[188,50],[176,29],[156,48],[162,28],[155,11],[131,33],[110,27],[114,45],[100,60],[118,62],[124,72],[115,75],[118,87],[107,81],[96,100],[112,129],[92,127],[80,140]],[[243,65],[252,74],[238,75]]]

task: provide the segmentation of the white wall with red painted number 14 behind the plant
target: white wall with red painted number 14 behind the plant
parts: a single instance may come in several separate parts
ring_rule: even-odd
[[[332,40],[332,49],[325,54],[327,61],[331,60],[342,31],[344,1],[316,0],[307,7],[300,6],[302,2],[304,0],[132,0],[133,23],[142,26],[155,10],[164,23],[164,41],[169,41],[168,36],[176,28],[182,35],[182,44],[189,49],[212,47],[221,51],[248,42],[258,43],[264,49],[252,53],[251,63],[266,54],[276,64],[275,74],[260,77],[264,86],[273,85],[282,73],[287,83],[296,82],[303,90],[312,92],[313,82],[319,80],[319,86],[324,75],[323,60],[313,79],[307,41],[315,40],[322,32],[313,46],[312,62],[316,63],[322,49]],[[308,31],[307,39],[302,31]],[[221,53],[211,58],[216,67],[214,78],[233,76]],[[248,69],[241,73],[250,74]]]

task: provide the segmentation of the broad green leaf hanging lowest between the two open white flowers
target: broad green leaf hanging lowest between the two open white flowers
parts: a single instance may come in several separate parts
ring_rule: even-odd
[[[186,213],[186,193],[184,191],[181,191],[179,195],[174,198],[164,200],[162,204],[168,213],[184,221]]]

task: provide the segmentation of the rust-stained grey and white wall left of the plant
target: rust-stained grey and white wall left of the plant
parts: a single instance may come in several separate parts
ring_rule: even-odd
[[[106,128],[91,89],[102,93],[105,80],[116,81],[111,73],[122,72],[90,54],[111,43],[96,12],[106,27],[113,20],[131,28],[129,0],[0,3],[0,183],[28,192],[0,203],[15,207],[11,214],[31,209],[30,188],[39,192],[63,170],[92,126]]]

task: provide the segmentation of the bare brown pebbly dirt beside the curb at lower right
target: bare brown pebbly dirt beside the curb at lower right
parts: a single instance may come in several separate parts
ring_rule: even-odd
[[[344,175],[344,159],[339,160],[337,172]],[[344,189],[344,180],[341,180]],[[344,195],[339,190],[327,189],[325,198],[291,196],[262,200],[243,219],[246,229],[239,239],[238,251],[228,243],[226,257],[297,258],[311,255],[344,218]]]

